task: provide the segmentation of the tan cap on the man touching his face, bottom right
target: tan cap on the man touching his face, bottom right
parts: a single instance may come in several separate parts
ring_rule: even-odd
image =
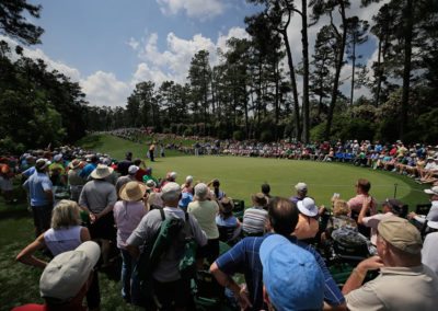
[[[379,234],[394,247],[411,254],[422,251],[422,235],[408,220],[388,217],[379,222]]]

